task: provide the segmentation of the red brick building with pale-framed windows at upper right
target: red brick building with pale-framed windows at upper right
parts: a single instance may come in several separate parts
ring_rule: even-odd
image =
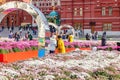
[[[120,0],[61,0],[61,22],[92,32],[120,31]]]

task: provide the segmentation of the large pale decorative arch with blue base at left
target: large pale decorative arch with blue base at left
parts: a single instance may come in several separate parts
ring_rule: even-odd
[[[49,30],[49,27],[46,18],[38,8],[26,2],[7,2],[0,6],[0,22],[8,13],[18,9],[28,12],[35,19],[38,25],[38,56],[43,57],[45,54],[45,29]]]

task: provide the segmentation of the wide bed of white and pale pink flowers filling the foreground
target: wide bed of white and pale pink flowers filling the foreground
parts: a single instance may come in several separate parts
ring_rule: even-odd
[[[44,58],[0,63],[2,80],[120,80],[119,51],[47,54]],[[103,79],[104,77],[104,79]]]

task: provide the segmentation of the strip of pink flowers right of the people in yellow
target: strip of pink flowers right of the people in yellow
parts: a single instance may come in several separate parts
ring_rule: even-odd
[[[91,50],[91,47],[97,47],[98,50],[117,50],[116,42],[109,42],[106,46],[101,46],[100,42],[90,41],[90,42],[66,42],[66,48],[79,48],[80,50]]]

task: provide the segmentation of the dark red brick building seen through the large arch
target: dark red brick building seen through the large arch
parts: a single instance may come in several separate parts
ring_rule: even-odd
[[[1,1],[2,3],[0,3],[0,5],[10,1],[16,1],[16,0],[2,0]],[[18,1],[23,1],[23,0],[18,0]],[[10,13],[8,11],[7,16],[4,17],[0,26],[16,27],[16,26],[20,26],[22,23],[32,23],[32,17],[27,12],[18,9]]]

